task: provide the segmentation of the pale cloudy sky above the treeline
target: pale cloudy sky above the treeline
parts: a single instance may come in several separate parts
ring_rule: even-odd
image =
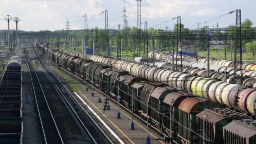
[[[6,15],[19,17],[20,30],[61,30],[66,29],[67,19],[70,29],[84,28],[83,14],[88,15],[88,27],[105,27],[105,13],[108,10],[109,28],[123,27],[124,0],[0,0],[0,29],[7,29]],[[241,9],[242,21],[249,18],[256,27],[254,16],[256,0],[142,0],[141,1],[141,29],[144,21],[148,27],[168,21],[176,16],[181,16],[184,27],[197,28],[197,23],[202,23]],[[129,27],[136,27],[137,1],[125,0],[126,16]],[[222,16],[199,27],[209,26],[228,27],[235,24],[235,13]],[[168,21],[155,28],[168,27],[173,29],[176,20]],[[194,26],[195,27],[191,27]],[[10,29],[15,28],[11,20]]]

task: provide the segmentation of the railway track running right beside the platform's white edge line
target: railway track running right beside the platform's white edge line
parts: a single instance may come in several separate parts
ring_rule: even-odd
[[[80,122],[83,129],[86,131],[88,136],[91,138],[91,143],[94,144],[114,144],[114,142],[109,138],[109,136],[104,132],[104,130],[96,123],[95,120],[91,117],[91,115],[83,108],[83,106],[80,104],[77,99],[75,99],[75,96],[72,94],[71,91],[59,80],[58,77],[51,71],[51,68],[45,64],[45,61],[43,61],[39,54],[34,51],[35,55],[37,56],[37,59],[40,62],[40,65],[42,66],[43,71],[47,75],[47,77],[50,79],[51,83],[56,87],[58,92],[61,94],[61,96],[64,98],[65,102],[77,118],[77,120]],[[80,111],[83,111],[82,113]],[[81,118],[83,117],[83,118]],[[86,120],[84,120],[86,119]],[[97,129],[96,129],[97,128]]]

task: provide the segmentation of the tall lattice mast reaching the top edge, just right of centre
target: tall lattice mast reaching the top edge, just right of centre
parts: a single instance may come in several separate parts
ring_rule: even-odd
[[[137,34],[139,36],[139,41],[138,45],[139,46],[139,53],[137,53],[138,56],[141,56],[141,0],[136,0],[137,1]],[[137,47],[138,51],[138,47]]]

